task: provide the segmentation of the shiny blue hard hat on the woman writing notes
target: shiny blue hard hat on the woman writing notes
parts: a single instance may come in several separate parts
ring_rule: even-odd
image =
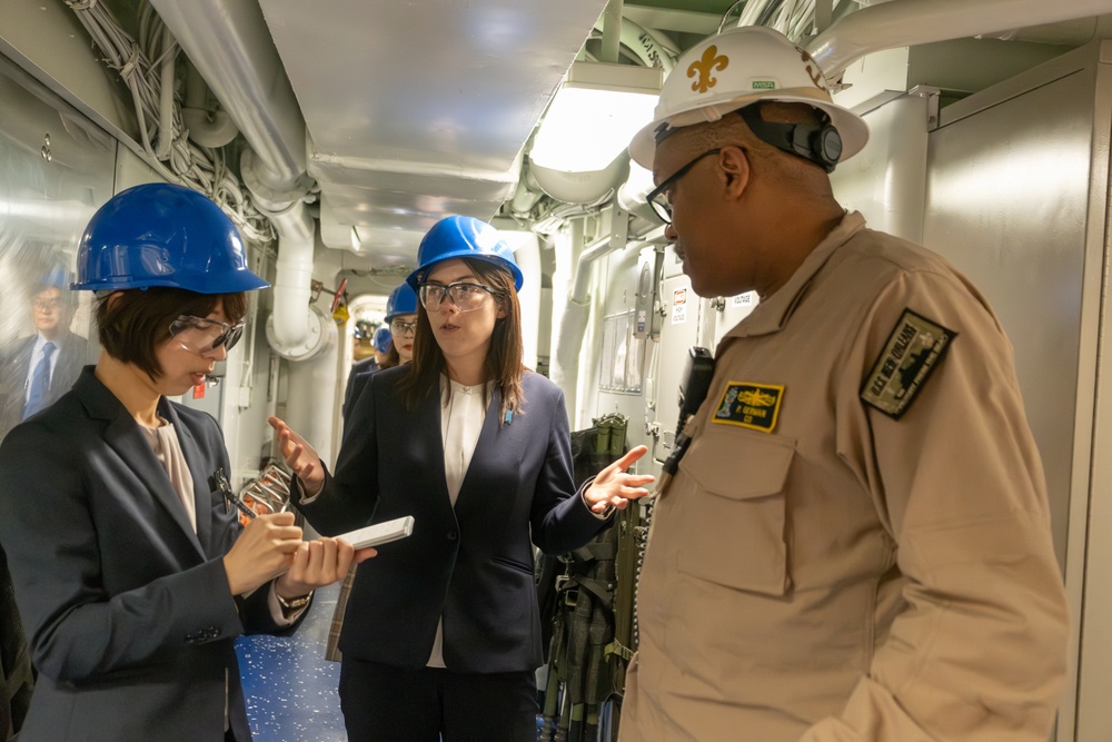
[[[92,215],[70,288],[237,294],[269,285],[248,270],[239,231],[219,206],[183,186],[145,184]]]

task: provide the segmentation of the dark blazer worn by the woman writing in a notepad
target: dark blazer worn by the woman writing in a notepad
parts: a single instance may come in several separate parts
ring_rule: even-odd
[[[0,544],[39,679],[22,742],[250,740],[234,642],[275,631],[268,590],[234,598],[240,532],[208,414],[162,399],[193,477],[197,533],[150,443],[86,367],[0,444]]]

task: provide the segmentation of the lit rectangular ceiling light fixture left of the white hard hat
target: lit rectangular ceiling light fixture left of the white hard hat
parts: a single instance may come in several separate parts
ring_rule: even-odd
[[[529,159],[565,172],[604,169],[653,120],[664,82],[655,67],[575,62],[553,98]]]

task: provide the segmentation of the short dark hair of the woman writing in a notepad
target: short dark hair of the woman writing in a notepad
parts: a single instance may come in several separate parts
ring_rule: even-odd
[[[170,324],[179,315],[207,317],[221,303],[230,324],[247,315],[246,293],[197,294],[165,286],[112,291],[97,300],[100,345],[112,358],[158,378],[162,368],[155,353],[170,339]]]

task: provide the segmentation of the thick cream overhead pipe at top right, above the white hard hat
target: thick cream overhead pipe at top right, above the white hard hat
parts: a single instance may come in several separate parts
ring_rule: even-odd
[[[875,51],[1006,30],[1009,19],[1042,26],[1112,13],[1112,0],[900,0],[843,16],[806,44],[830,79]]]

